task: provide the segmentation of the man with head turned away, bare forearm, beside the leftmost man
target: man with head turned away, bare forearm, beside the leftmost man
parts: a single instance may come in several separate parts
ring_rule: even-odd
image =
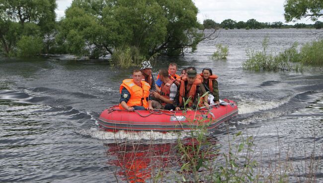
[[[168,77],[168,71],[166,69],[162,69],[159,72],[159,76],[159,79],[162,81],[161,92],[152,92],[152,95],[156,98],[156,100],[152,100],[152,106],[156,109],[161,109],[163,107],[165,110],[175,110],[173,101],[176,96],[179,82],[177,80],[171,80]]]

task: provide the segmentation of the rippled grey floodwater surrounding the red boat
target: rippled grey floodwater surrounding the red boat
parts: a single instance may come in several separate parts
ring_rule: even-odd
[[[264,166],[278,155],[293,164],[297,174],[288,174],[291,182],[306,180],[306,167],[312,157],[316,180],[320,182],[322,68],[310,67],[304,72],[242,69],[245,50],[261,50],[264,36],[269,36],[269,50],[278,53],[295,41],[303,45],[315,40],[316,31],[223,30],[217,39],[201,42],[195,53],[159,58],[153,72],[156,76],[169,62],[176,62],[179,69],[212,68],[219,76],[220,98],[236,101],[239,115],[210,132],[211,141],[221,144],[225,151],[228,136],[239,131],[243,136],[253,136],[254,156],[261,156]],[[229,46],[226,61],[208,58],[217,43]],[[154,162],[176,166],[164,157],[174,156],[176,139],[185,139],[185,135],[113,134],[98,128],[100,112],[118,103],[119,85],[130,77],[132,69],[112,68],[104,60],[70,60],[69,56],[1,58],[0,182],[113,183],[127,182],[127,178],[129,182],[151,182],[156,173]],[[153,156],[147,157],[149,152],[154,152]],[[129,164],[134,161],[141,166]],[[172,178],[163,181],[173,182]]]

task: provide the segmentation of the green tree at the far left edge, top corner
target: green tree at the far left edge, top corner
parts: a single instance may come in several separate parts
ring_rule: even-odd
[[[55,0],[0,0],[0,41],[5,55],[19,49],[17,42],[22,36],[31,36],[24,40],[41,40],[51,33],[55,26],[55,8]],[[20,45],[34,46],[27,44],[32,41],[22,42]]]

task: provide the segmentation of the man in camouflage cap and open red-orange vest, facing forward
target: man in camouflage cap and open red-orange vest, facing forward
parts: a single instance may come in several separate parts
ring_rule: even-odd
[[[187,110],[195,109],[196,107],[205,106],[209,108],[207,102],[208,96],[202,95],[206,93],[206,90],[201,82],[197,79],[197,73],[195,70],[187,71],[187,78],[183,78],[180,81],[180,86],[174,98],[175,110],[186,108]],[[200,100],[199,100],[200,97]],[[184,106],[184,102],[190,99],[188,106]]]

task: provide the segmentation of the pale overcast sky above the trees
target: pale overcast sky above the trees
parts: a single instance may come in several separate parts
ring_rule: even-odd
[[[57,0],[57,18],[64,16],[64,11],[73,0]],[[198,20],[203,23],[205,19],[212,19],[221,23],[225,19],[247,21],[254,18],[259,22],[275,22],[284,20],[285,0],[193,0],[199,13]],[[308,19],[302,19],[295,23],[314,23]]]

